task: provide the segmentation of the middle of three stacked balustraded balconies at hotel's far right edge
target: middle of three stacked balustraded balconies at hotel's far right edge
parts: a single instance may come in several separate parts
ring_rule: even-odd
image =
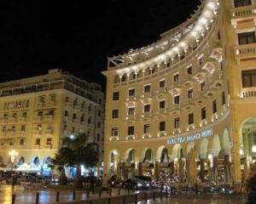
[[[256,57],[256,43],[243,44],[234,47],[236,60],[255,58]]]

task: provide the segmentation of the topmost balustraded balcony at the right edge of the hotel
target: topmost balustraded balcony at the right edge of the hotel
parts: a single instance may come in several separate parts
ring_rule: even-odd
[[[249,5],[231,9],[231,24],[236,28],[238,21],[248,22],[256,18],[256,5]]]

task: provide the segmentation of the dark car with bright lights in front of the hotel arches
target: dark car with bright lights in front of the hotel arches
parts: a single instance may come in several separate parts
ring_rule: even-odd
[[[151,181],[151,178],[149,179],[140,176],[128,178],[125,181],[125,188],[133,190],[149,190],[152,189]]]

